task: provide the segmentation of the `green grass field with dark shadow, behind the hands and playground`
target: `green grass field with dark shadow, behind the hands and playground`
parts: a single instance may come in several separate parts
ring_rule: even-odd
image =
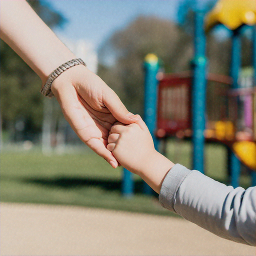
[[[190,165],[191,144],[170,140],[166,155],[173,162]],[[207,175],[228,183],[225,150],[207,145]],[[117,210],[173,215],[163,209],[156,195],[142,193],[142,182],[135,179],[135,196],[121,195],[122,169],[110,165],[91,151],[45,156],[39,150],[7,151],[0,155],[0,199],[8,202],[31,202],[84,205]],[[250,185],[243,175],[241,185]]]

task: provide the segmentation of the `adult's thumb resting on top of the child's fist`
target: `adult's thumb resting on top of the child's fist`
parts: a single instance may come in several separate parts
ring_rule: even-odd
[[[136,122],[139,118],[127,110],[120,98],[112,89],[110,89],[108,93],[104,95],[104,105],[108,108],[117,121],[124,124]]]

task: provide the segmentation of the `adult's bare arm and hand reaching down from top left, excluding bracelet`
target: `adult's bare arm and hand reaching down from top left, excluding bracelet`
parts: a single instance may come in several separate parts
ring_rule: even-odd
[[[0,36],[38,74],[42,84],[56,67],[76,58],[25,0],[0,1]],[[79,138],[116,167],[115,157],[106,149],[108,131],[116,120],[134,122],[134,115],[82,65],[63,72],[51,89]]]

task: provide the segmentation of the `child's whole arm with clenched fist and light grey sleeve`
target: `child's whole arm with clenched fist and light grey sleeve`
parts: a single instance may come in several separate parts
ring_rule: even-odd
[[[137,123],[111,128],[107,147],[120,164],[159,193],[163,207],[220,237],[255,245],[256,187],[234,189],[174,165],[155,151],[145,123]]]

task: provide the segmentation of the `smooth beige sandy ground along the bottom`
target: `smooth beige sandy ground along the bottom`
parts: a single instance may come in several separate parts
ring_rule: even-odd
[[[186,220],[113,210],[1,203],[0,255],[255,255]]]

